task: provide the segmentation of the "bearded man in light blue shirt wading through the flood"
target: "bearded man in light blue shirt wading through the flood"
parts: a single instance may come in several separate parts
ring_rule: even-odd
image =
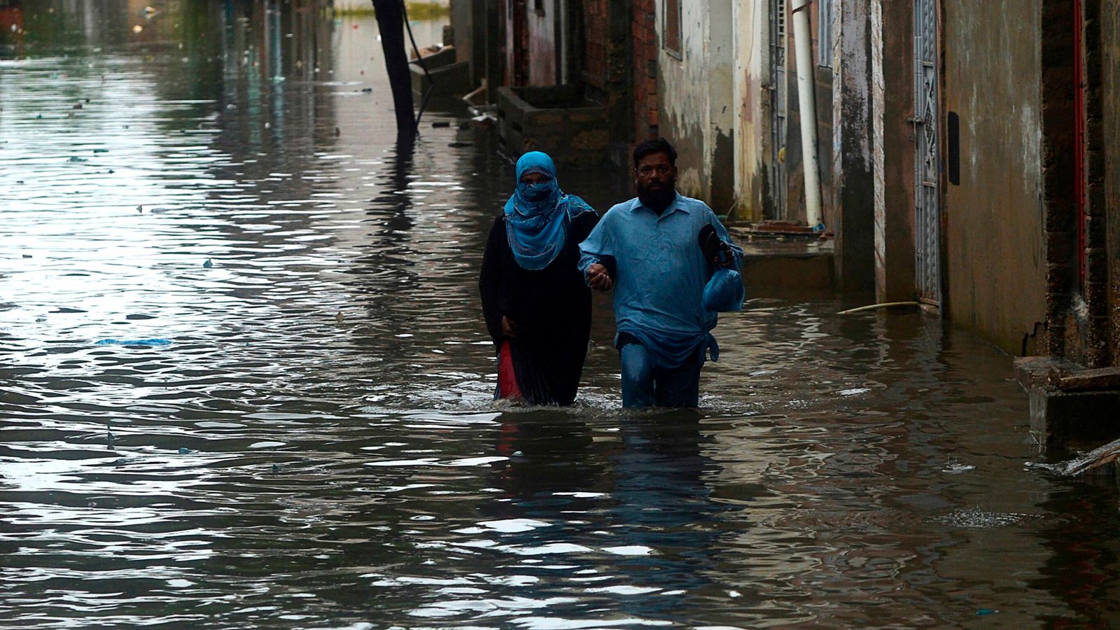
[[[623,406],[697,407],[706,354],[719,356],[704,285],[717,266],[738,270],[743,250],[707,204],[676,193],[676,150],[664,138],[634,149],[634,183],[637,197],[580,243],[579,269],[592,289],[615,289]]]

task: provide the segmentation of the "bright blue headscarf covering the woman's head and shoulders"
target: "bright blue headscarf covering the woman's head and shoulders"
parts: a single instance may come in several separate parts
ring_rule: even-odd
[[[568,240],[568,225],[591,206],[575,195],[566,195],[557,183],[552,158],[541,151],[529,151],[517,160],[517,188],[505,202],[505,234],[513,258],[523,269],[544,269]],[[548,182],[525,184],[526,173],[549,176]]]

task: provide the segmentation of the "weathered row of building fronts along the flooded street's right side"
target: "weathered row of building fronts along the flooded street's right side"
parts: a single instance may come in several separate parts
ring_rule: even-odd
[[[664,136],[732,220],[815,196],[839,290],[1120,368],[1120,0],[486,2],[498,80],[605,103],[612,161]],[[519,26],[539,7],[556,35]]]

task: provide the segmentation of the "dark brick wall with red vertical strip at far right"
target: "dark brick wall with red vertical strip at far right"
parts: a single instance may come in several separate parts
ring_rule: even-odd
[[[1081,0],[1081,22],[1075,24],[1074,0],[1043,3],[1047,351],[1086,368],[1103,368],[1116,358],[1109,296],[1101,1]],[[1075,29],[1081,35],[1084,85],[1080,112],[1073,98],[1077,90]],[[1079,115],[1084,120],[1083,147],[1075,135]],[[1084,151],[1083,173],[1076,172],[1070,157],[1080,150]],[[1082,191],[1083,207],[1077,200]]]

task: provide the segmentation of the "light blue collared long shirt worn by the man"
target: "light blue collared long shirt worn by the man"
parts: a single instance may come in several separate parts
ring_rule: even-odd
[[[614,258],[617,332],[641,340],[663,368],[680,365],[698,348],[701,352],[710,348],[713,361],[719,356],[710,334],[717,314],[702,304],[703,287],[715,266],[704,260],[697,243],[707,223],[731,247],[732,268],[738,270],[743,250],[731,242],[716,213],[702,201],[681,194],[661,216],[637,198],[612,207],[579,245],[585,279],[588,267]]]

